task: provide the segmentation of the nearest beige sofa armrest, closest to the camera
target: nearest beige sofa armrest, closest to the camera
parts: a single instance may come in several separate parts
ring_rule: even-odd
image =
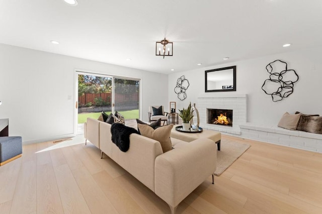
[[[155,159],[155,193],[177,206],[216,170],[216,144],[210,139],[181,143]]]

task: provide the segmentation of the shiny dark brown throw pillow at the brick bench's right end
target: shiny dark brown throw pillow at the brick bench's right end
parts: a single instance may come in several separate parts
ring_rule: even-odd
[[[322,117],[301,115],[296,129],[304,132],[322,134]]]

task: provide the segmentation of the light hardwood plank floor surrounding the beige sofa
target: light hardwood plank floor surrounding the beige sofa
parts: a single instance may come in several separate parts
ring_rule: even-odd
[[[225,139],[252,146],[214,185],[209,176],[177,213],[322,213],[322,154]],[[51,148],[52,142],[25,145],[21,158],[0,167],[0,213],[170,212],[114,161],[100,159],[91,143]]]

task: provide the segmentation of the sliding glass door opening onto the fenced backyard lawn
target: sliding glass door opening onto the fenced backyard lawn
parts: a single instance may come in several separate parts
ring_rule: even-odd
[[[84,133],[87,118],[98,119],[102,111],[106,114],[119,112],[126,124],[139,118],[139,79],[85,72],[76,72],[76,75],[76,134]]]

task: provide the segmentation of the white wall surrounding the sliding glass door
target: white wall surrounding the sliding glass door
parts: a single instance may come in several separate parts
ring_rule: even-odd
[[[143,121],[148,105],[169,105],[165,74],[0,44],[0,118],[9,118],[9,134],[25,143],[72,135],[75,70],[141,79]]]

